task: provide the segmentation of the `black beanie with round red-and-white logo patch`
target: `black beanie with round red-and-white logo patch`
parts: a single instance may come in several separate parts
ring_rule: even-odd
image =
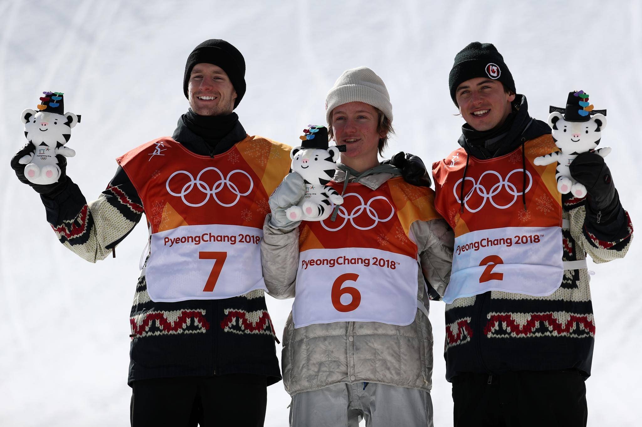
[[[499,80],[508,90],[516,93],[513,76],[504,63],[504,58],[490,43],[473,42],[455,55],[455,63],[448,76],[450,97],[455,105],[457,86],[475,77]]]

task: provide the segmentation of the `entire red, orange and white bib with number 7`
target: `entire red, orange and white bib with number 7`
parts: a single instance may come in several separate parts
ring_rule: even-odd
[[[268,195],[290,168],[290,147],[248,136],[209,157],[160,138],[117,161],[143,201],[152,233],[145,274],[153,301],[266,289],[259,243]]]

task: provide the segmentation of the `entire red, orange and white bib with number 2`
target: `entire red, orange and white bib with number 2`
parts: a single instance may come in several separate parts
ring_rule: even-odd
[[[525,170],[521,147],[494,159],[471,156],[465,179],[464,149],[433,164],[435,207],[455,230],[444,302],[486,291],[544,296],[560,286],[562,204],[556,165],[533,163],[555,149],[550,135],[526,142]]]

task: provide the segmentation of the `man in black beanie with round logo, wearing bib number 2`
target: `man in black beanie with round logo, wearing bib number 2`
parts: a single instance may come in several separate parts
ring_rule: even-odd
[[[455,230],[443,298],[455,426],[586,426],[595,332],[586,255],[623,257],[629,215],[597,154],[571,164],[582,199],[560,195],[555,168],[534,165],[557,150],[551,129],[530,117],[494,45],[458,52],[448,83],[465,124],[433,177],[435,206]]]

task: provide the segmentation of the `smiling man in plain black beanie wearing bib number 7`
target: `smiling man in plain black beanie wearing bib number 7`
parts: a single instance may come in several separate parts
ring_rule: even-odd
[[[130,315],[132,426],[263,426],[266,387],[281,373],[259,242],[290,147],[245,133],[233,112],[245,60],[225,40],[189,54],[183,92],[190,108],[173,136],[118,157],[98,200],[85,200],[63,162],[60,182],[34,189],[60,242],[90,262],[115,256],[146,215],[150,251]],[[12,159],[24,181],[29,150]]]

